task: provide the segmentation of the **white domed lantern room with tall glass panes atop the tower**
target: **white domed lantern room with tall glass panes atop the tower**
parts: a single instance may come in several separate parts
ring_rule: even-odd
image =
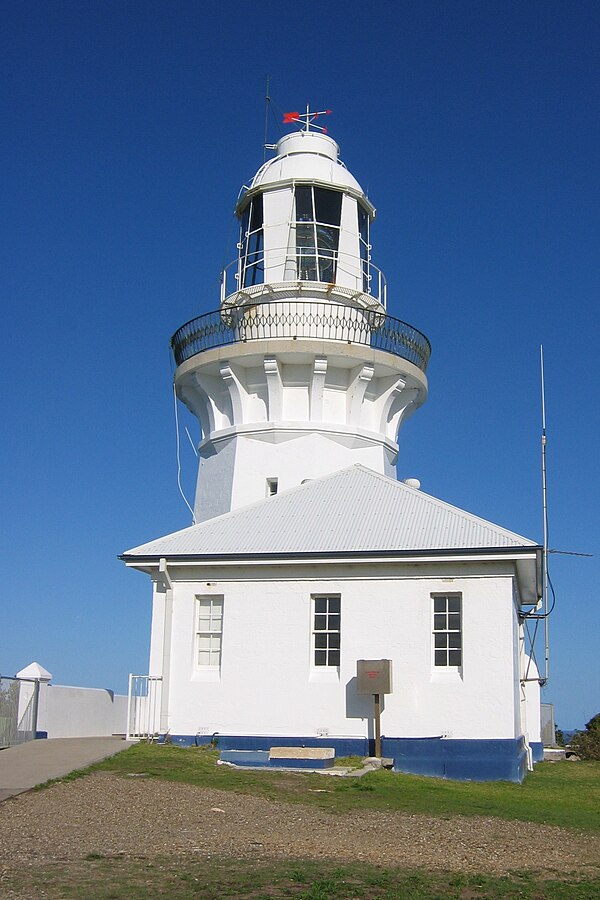
[[[239,256],[223,279],[222,304],[305,299],[385,309],[382,273],[371,261],[375,208],[326,134],[282,137],[276,155],[244,186],[236,207]]]

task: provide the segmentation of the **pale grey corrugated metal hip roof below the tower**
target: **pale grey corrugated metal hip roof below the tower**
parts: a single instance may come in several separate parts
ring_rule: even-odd
[[[535,546],[534,541],[359,464],[134,547],[123,556],[393,553]]]

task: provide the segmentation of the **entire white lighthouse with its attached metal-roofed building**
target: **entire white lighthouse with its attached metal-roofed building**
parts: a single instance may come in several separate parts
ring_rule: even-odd
[[[231,289],[172,339],[203,432],[197,524],[122,556],[154,585],[154,730],[367,755],[356,663],[385,658],[397,770],[520,780],[541,751],[521,686],[541,548],[396,480],[429,343],[387,314],[375,210],[297,118],[242,192]]]

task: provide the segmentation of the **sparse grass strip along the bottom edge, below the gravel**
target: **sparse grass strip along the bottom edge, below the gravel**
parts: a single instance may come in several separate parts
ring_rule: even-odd
[[[146,900],[148,896],[206,900],[595,900],[600,896],[600,879],[577,875],[559,878],[516,872],[488,876],[307,860],[111,858],[12,871],[4,885],[18,896],[86,900]]]

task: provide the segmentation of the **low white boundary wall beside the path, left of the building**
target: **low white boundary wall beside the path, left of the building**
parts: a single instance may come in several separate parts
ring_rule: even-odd
[[[40,684],[38,731],[49,738],[125,734],[127,697],[97,688]]]

